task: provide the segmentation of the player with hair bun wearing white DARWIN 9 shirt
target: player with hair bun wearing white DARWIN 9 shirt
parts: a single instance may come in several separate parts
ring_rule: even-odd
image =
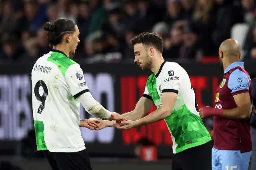
[[[80,103],[93,116],[125,120],[100,105],[90,94],[80,65],[69,58],[80,42],[72,20],[46,22],[53,49],[32,69],[32,105],[38,150],[43,150],[52,170],[92,170],[80,127],[100,129],[104,121],[80,120]]]

